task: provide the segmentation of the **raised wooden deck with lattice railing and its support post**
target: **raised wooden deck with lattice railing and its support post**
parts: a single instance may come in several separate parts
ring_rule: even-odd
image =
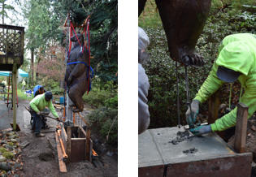
[[[17,71],[24,62],[24,27],[0,24],[0,71],[12,73],[13,129],[16,130]]]

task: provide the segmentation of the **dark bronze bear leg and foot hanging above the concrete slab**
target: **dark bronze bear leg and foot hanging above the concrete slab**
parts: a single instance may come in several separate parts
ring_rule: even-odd
[[[139,16],[146,0],[139,0]],[[195,54],[195,45],[202,33],[210,11],[210,0],[155,0],[168,49],[173,60],[186,65],[203,65],[203,58]]]

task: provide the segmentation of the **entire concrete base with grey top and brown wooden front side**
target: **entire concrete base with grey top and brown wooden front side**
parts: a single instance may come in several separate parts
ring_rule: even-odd
[[[139,136],[140,177],[250,175],[251,153],[234,153],[215,133],[201,137],[190,133],[193,138],[173,145],[171,140],[179,131],[184,132],[184,128],[150,129]],[[188,149],[197,149],[197,152],[183,152]],[[236,174],[233,171],[237,171]]]

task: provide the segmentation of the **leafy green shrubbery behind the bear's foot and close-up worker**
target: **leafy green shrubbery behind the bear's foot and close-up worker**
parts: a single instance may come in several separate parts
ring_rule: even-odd
[[[250,5],[254,5],[253,1]],[[177,106],[176,106],[176,65],[169,57],[167,39],[162,25],[151,23],[151,19],[159,18],[154,1],[147,2],[145,14],[139,18],[139,25],[145,29],[150,38],[150,63],[145,66],[146,74],[150,80],[150,91],[148,96],[148,104],[150,106],[150,127],[172,127],[177,125]],[[256,16],[254,13],[245,11],[239,6],[238,1],[212,1],[210,16],[206,21],[206,25],[202,35],[197,41],[196,50],[205,58],[204,67],[189,67],[189,88],[192,100],[201,87],[204,80],[208,76],[212,63],[218,56],[218,48],[223,37],[237,32],[256,33]],[[147,9],[150,6],[150,10]],[[150,14],[151,13],[151,14]],[[143,16],[144,15],[144,16]],[[178,75],[180,77],[180,117],[182,124],[185,122],[186,93],[184,83],[184,67],[179,65]],[[227,91],[228,85],[224,85]],[[239,91],[237,91],[239,93]],[[224,94],[224,93],[223,93]],[[227,97],[223,97],[222,101],[228,103]],[[207,104],[200,107],[201,113],[207,113]]]

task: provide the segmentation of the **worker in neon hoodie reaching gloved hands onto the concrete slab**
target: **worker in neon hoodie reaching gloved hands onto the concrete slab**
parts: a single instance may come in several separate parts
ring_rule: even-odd
[[[244,89],[240,102],[249,107],[248,118],[256,110],[256,38],[253,34],[237,33],[223,39],[219,46],[219,56],[202,87],[187,110],[186,119],[189,124],[196,122],[199,104],[215,93],[224,82],[233,83],[236,80]],[[215,123],[191,128],[190,132],[200,136],[208,132],[217,132],[236,125],[237,107],[223,115]]]

